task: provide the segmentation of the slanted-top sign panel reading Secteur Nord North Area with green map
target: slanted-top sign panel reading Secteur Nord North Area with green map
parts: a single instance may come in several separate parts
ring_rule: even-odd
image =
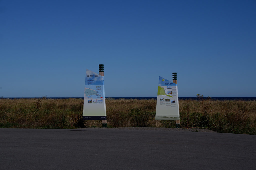
[[[159,76],[156,120],[179,120],[178,86]]]

